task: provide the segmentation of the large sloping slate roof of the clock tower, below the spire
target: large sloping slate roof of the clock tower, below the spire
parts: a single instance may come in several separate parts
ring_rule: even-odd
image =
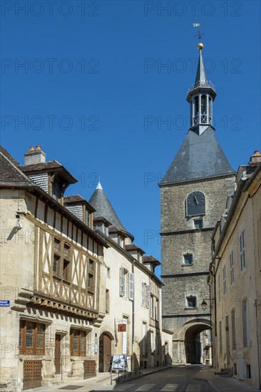
[[[208,127],[201,135],[189,130],[159,185],[233,173],[213,128]]]

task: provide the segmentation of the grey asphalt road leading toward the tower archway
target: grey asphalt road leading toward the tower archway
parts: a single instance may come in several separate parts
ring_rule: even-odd
[[[197,378],[202,367],[187,365],[167,368],[117,385],[97,388],[96,391],[215,392],[208,381]]]

